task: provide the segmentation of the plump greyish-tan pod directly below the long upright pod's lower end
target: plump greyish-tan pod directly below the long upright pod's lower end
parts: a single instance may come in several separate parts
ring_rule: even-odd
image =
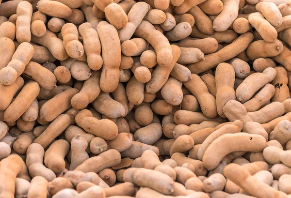
[[[124,106],[121,103],[113,100],[109,93],[102,91],[92,104],[98,112],[106,115],[109,118],[119,118],[125,116]]]

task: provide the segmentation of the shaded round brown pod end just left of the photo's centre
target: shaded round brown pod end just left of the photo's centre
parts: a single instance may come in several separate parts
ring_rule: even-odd
[[[153,121],[153,111],[145,105],[138,107],[134,112],[134,119],[142,126],[146,126]]]

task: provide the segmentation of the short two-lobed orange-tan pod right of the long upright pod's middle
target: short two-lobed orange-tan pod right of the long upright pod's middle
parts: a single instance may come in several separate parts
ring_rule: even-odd
[[[121,52],[125,56],[140,56],[146,51],[147,43],[142,38],[133,38],[121,44]]]

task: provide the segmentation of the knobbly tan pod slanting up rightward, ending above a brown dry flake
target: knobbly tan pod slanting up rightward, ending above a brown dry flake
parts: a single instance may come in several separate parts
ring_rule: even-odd
[[[120,153],[114,149],[110,149],[108,151],[102,152],[98,156],[91,157],[85,160],[75,170],[79,170],[85,173],[90,171],[99,172],[104,168],[115,166],[120,162],[121,162]],[[95,166],[96,164],[98,164],[98,166]]]

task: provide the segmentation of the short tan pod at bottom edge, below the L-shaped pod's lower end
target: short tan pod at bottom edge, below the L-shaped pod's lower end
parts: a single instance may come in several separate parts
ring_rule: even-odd
[[[51,196],[54,196],[55,194],[57,194],[57,192],[65,189],[65,188],[74,189],[74,186],[68,179],[66,179],[64,177],[55,178],[53,181],[51,181],[49,183],[49,186],[48,186],[49,194]]]

